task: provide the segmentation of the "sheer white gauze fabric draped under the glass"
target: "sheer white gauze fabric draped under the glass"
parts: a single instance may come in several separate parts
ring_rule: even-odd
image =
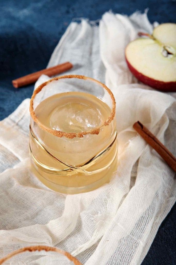
[[[69,74],[105,82],[115,95],[118,169],[110,183],[77,195],[46,188],[29,167],[29,99],[0,122],[1,257],[42,244],[85,265],[141,264],[176,194],[174,172],[132,128],[140,120],[176,155],[175,94],[138,83],[125,62],[125,46],[141,30],[153,30],[146,13],[108,12],[99,26],[72,22],[48,64],[70,61],[75,66]],[[48,79],[41,76],[35,87]],[[71,263],[41,252],[18,255],[10,264]]]

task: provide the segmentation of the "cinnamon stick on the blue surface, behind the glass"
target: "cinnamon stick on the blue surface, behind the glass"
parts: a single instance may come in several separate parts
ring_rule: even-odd
[[[56,74],[60,74],[62,72],[65,72],[73,67],[73,64],[66,62],[63,64],[56,65],[54,67],[50,67],[47,69],[40,70],[38,72],[28,74],[27,76],[23,76],[20,78],[17,78],[15,80],[12,80],[12,85],[15,88],[26,86],[29,84],[32,84],[37,81],[37,79],[42,75],[46,74],[47,76],[55,76]]]

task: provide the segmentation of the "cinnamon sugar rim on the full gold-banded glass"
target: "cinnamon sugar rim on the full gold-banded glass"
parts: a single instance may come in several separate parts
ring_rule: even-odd
[[[59,79],[63,79],[63,78],[78,78],[78,79],[83,79],[83,80],[91,80],[91,81],[94,81],[96,83],[98,83],[100,86],[102,86],[105,90],[107,90],[108,94],[110,95],[111,99],[112,99],[112,111],[109,115],[109,117],[107,118],[107,120],[99,127],[93,129],[93,130],[90,130],[90,131],[83,131],[83,132],[80,132],[80,133],[66,133],[66,132],[63,132],[63,131],[57,131],[57,130],[53,130],[53,129],[50,129],[49,127],[46,127],[44,126],[40,121],[39,119],[37,118],[35,112],[34,112],[34,99],[35,99],[35,96],[47,85],[49,84],[50,82],[54,81],[54,80],[59,80]],[[116,101],[115,101],[115,98],[114,98],[114,95],[112,94],[111,90],[106,86],[104,85],[103,83],[97,81],[96,79],[93,79],[91,77],[86,77],[86,76],[81,76],[81,75],[65,75],[65,76],[59,76],[59,77],[54,77],[44,83],[42,83],[39,87],[37,87],[37,89],[34,90],[33,94],[32,94],[32,97],[31,97],[31,100],[30,100],[30,108],[29,108],[29,111],[30,111],[30,114],[31,114],[31,117],[32,119],[37,123],[37,125],[44,131],[54,135],[54,136],[57,136],[57,137],[66,137],[66,138],[74,138],[74,137],[79,137],[79,138],[82,138],[84,135],[86,134],[99,134],[100,132],[100,129],[101,127],[103,126],[108,126],[111,121],[113,120],[114,116],[115,116],[115,112],[116,112]]]

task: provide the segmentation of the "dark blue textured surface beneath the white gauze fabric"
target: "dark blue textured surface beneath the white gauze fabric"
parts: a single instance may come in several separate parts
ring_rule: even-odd
[[[29,3],[30,2],[30,3]],[[34,86],[15,89],[11,80],[46,67],[73,17],[101,18],[104,12],[130,15],[149,7],[151,22],[176,23],[176,1],[1,0],[0,1],[0,120],[13,112]],[[176,206],[161,224],[142,265],[175,265]]]

